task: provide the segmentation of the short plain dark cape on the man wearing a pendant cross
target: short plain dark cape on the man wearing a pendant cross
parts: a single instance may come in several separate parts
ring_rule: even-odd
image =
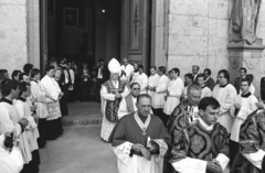
[[[170,142],[170,137],[158,117],[150,115],[150,122],[144,131],[137,123],[134,113],[130,113],[118,121],[109,137],[109,141],[113,143],[113,147],[118,147],[126,141],[147,147],[148,137],[151,139],[163,139],[167,144]]]

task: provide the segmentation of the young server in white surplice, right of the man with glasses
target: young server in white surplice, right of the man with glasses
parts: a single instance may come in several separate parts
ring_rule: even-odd
[[[240,128],[241,125],[245,121],[248,115],[257,110],[256,102],[257,98],[250,91],[251,82],[245,77],[241,79],[241,90],[242,94],[235,97],[234,107],[237,111],[234,123],[231,130],[231,141],[230,141],[230,153],[231,160],[234,160],[236,152],[239,151],[239,141],[240,141]]]

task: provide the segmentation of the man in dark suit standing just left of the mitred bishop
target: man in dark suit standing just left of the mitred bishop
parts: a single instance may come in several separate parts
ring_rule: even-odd
[[[102,84],[109,78],[108,68],[106,67],[103,60],[98,61],[97,72],[97,87],[96,87],[96,100],[100,101],[100,88]]]

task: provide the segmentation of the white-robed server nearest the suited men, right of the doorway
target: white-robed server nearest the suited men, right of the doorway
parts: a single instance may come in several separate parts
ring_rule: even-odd
[[[173,109],[180,104],[180,97],[184,90],[184,83],[179,77],[180,71],[179,68],[171,69],[172,79],[168,83],[167,89],[167,100],[163,106],[163,112],[166,116],[163,117],[162,121],[163,125],[167,126],[169,116],[171,116]]]

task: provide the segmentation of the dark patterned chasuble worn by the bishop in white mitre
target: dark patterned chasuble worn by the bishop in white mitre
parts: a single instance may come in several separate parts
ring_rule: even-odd
[[[114,83],[112,79],[107,80],[103,85],[107,88],[108,94],[115,94],[116,90],[121,94],[125,90],[126,83],[123,83],[121,80],[118,80],[118,88],[115,88]],[[106,100],[106,110],[105,116],[106,119],[110,122],[117,122],[118,121],[118,108],[119,102],[121,101],[121,98],[116,98],[115,100]]]

